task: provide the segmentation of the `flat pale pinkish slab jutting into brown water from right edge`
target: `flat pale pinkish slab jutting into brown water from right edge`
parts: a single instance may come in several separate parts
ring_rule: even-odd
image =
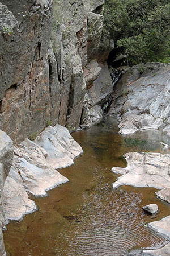
[[[159,153],[127,153],[124,155],[128,166],[113,167],[114,174],[121,174],[113,183],[113,188],[120,185],[135,187],[154,187],[163,189],[169,186],[170,155]]]

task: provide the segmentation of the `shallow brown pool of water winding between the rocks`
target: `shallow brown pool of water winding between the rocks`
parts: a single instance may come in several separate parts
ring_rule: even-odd
[[[113,166],[125,167],[121,158],[130,151],[161,151],[158,131],[118,135],[107,126],[94,126],[72,134],[84,154],[60,170],[69,183],[35,199],[39,210],[11,222],[4,233],[7,255],[12,256],[125,256],[142,255],[132,249],[162,247],[168,241],[145,224],[170,214],[168,204],[156,199],[153,188],[112,188]],[[169,152],[168,152],[169,153]],[[142,206],[156,203],[160,213],[147,216]],[[129,252],[131,251],[131,252]]]

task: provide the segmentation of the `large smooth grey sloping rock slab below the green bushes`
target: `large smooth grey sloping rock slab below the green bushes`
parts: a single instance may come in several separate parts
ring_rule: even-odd
[[[169,131],[169,74],[170,65],[160,63],[135,65],[124,73],[109,110],[119,119],[121,134],[150,128]]]

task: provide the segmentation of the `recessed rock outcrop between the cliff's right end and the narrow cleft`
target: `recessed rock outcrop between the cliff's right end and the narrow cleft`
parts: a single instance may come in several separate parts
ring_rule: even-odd
[[[104,105],[113,92],[112,78],[107,64],[91,61],[84,70],[87,93],[84,97],[81,127],[90,128],[102,119]]]

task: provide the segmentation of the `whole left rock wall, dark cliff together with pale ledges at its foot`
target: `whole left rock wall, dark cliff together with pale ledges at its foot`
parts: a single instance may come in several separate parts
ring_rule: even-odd
[[[10,171],[12,141],[2,132],[8,151],[3,156],[0,148],[1,165],[6,157],[8,168],[1,170],[0,196],[10,171],[4,187],[8,219],[36,210],[28,191],[44,196],[68,181],[56,169],[73,164],[82,148],[62,126],[75,130],[102,118],[112,93],[106,60],[114,47],[101,38],[103,5],[104,0],[0,0],[0,129],[15,144]],[[4,255],[2,239],[0,246]]]

